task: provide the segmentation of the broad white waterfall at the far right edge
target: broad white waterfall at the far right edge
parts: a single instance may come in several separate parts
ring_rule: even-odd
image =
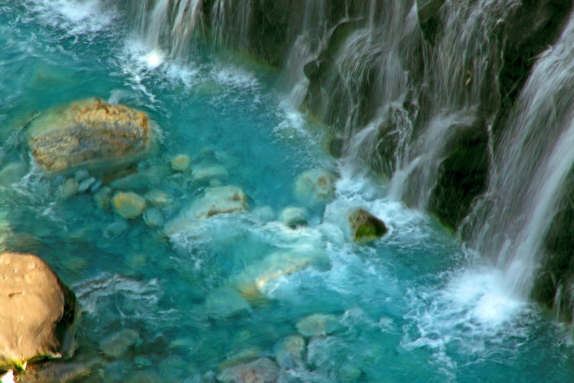
[[[574,164],[574,18],[541,55],[495,150],[490,186],[474,212],[471,245],[528,296],[542,241]]]

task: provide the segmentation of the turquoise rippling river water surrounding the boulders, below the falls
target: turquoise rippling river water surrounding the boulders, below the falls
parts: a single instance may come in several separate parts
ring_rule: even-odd
[[[97,0],[0,3],[0,160],[29,170],[0,189],[5,247],[40,255],[76,291],[80,355],[122,329],[141,338],[88,379],[145,371],[210,381],[238,353],[275,358],[301,319],[324,314],[336,319],[333,332],[305,338],[304,363],[286,366],[282,381],[572,381],[571,330],[507,294],[497,270],[468,266],[472,255],[452,233],[386,198],[385,180],[324,154],[319,129],[283,101],[279,73],[229,52],[178,63],[124,23]],[[27,123],[93,96],[145,111],[161,128],[158,153],[138,169],[157,169],[152,188],[172,196],[165,222],[208,187],[162,170],[179,153],[227,169],[223,183],[249,195],[252,213],[166,237],[100,210],[90,192],[58,199],[59,180],[30,164]],[[309,226],[289,229],[275,219],[301,205],[294,180],[315,168],[339,173],[335,199],[310,209]],[[351,242],[344,214],[354,207],[389,233]],[[231,295],[231,315],[210,303],[270,265],[289,271],[266,280],[261,296]]]

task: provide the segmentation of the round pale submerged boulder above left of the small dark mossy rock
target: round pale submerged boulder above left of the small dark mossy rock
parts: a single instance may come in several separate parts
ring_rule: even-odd
[[[325,169],[312,169],[297,177],[295,194],[309,203],[328,202],[335,196],[337,177]]]

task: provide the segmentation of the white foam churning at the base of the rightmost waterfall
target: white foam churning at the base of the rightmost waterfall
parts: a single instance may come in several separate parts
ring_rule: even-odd
[[[448,369],[457,359],[472,362],[501,351],[514,354],[528,339],[529,324],[536,316],[532,306],[507,289],[501,270],[483,267],[449,275],[442,288],[409,290],[412,310],[405,316],[402,346],[425,347]],[[451,350],[452,352],[452,350]]]

